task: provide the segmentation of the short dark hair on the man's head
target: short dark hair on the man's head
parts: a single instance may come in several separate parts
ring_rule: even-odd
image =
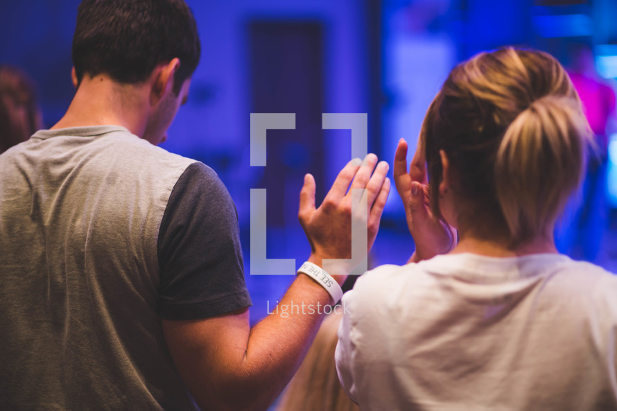
[[[145,81],[158,64],[180,58],[174,91],[180,92],[200,58],[195,17],[184,0],[82,0],[73,36],[73,65],[117,82]]]

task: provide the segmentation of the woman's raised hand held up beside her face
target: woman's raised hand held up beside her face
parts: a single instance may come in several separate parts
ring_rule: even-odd
[[[418,144],[407,170],[407,141],[399,140],[394,155],[394,183],[403,200],[407,226],[416,245],[411,260],[431,259],[452,250],[456,243],[455,229],[434,216],[429,207],[426,159],[422,144]]]

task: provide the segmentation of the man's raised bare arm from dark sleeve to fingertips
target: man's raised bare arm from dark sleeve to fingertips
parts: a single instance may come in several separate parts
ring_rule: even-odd
[[[351,189],[366,189],[372,247],[390,191],[386,173],[388,164],[377,164],[375,155],[368,155],[363,166],[358,159],[350,161],[317,209],[315,180],[306,175],[298,215],[311,243],[308,261],[322,267],[324,259],[351,256],[351,221],[361,218],[352,215]],[[336,274],[342,284],[349,271]],[[297,276],[279,304],[292,301],[313,307],[336,303],[306,274]],[[180,376],[202,410],[266,410],[313,342],[323,319],[323,311],[313,311],[292,310],[288,317],[275,312],[250,329],[248,308],[243,308],[202,320],[163,320],[163,331]]]

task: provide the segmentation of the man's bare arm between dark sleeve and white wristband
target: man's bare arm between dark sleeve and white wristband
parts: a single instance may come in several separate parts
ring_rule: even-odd
[[[202,410],[266,410],[302,363],[330,303],[322,286],[299,274],[279,309],[271,308],[253,329],[247,308],[205,320],[164,320],[163,329]]]

